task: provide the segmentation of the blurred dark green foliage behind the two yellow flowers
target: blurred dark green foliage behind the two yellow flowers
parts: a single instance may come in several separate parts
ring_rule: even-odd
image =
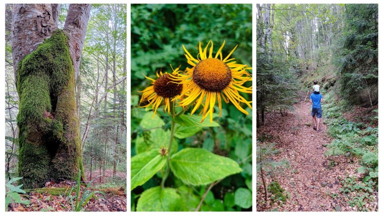
[[[131,156],[136,154],[137,139],[149,140],[151,129],[143,128],[141,122],[146,110],[138,107],[141,96],[137,91],[149,86],[150,81],[144,75],[156,77],[157,70],[171,71],[181,65],[181,70],[189,66],[184,56],[182,44],[196,56],[198,42],[205,45],[210,39],[214,44],[214,53],[225,40],[222,50],[226,56],[238,44],[231,55],[238,63],[251,66],[252,61],[252,5],[251,4],[132,4],[131,5]],[[251,70],[248,70],[251,73]],[[144,74],[144,75],[143,75]],[[247,83],[250,86],[251,82]],[[251,100],[251,94],[242,94]],[[251,209],[251,110],[246,108],[244,115],[231,104],[223,103],[220,125],[203,127],[192,136],[177,139],[178,150],[186,147],[200,147],[215,154],[223,155],[239,163],[242,171],[230,175],[215,185],[205,197],[200,210],[234,211]],[[169,130],[170,119],[157,110],[163,120],[161,130]],[[215,112],[218,112],[216,107]],[[198,116],[201,119],[201,116]],[[149,123],[149,122],[148,122]],[[214,122],[213,122],[214,123]],[[156,129],[154,129],[156,131]],[[162,132],[163,133],[163,132]],[[166,133],[166,132],[165,132]],[[177,137],[177,134],[176,134]],[[166,140],[167,142],[168,140]],[[172,149],[173,150],[173,149]],[[139,194],[160,184],[158,172],[146,183],[131,191],[131,207],[135,210]],[[184,185],[174,175],[167,178],[167,187],[183,192],[192,192],[192,197],[200,200],[206,186]],[[153,188],[154,189],[154,188]],[[170,190],[169,190],[170,191]],[[149,192],[149,191],[148,191]],[[198,203],[194,200],[191,203]],[[182,209],[194,210],[191,203],[181,203]],[[141,208],[141,207],[140,207]]]

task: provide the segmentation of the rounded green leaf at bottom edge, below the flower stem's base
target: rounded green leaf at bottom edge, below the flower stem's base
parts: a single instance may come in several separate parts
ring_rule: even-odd
[[[173,188],[156,186],[141,193],[137,201],[137,211],[177,211],[180,206],[180,195]]]

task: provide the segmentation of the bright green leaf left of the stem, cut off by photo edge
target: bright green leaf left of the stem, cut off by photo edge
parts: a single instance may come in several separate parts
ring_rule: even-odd
[[[131,158],[130,190],[145,183],[164,166],[166,156],[162,156],[159,151],[160,149],[153,149]]]

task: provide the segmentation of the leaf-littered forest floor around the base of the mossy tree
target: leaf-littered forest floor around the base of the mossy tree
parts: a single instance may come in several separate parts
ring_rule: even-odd
[[[102,172],[102,170],[101,170]],[[96,193],[97,198],[92,197],[81,208],[82,211],[126,211],[126,190],[122,186],[116,186],[112,182],[112,170],[105,169],[105,175],[95,178],[99,175],[98,170],[92,171],[94,182],[91,186],[80,185],[80,194],[88,191],[102,191],[105,197],[100,193]],[[89,178],[89,171],[85,172]],[[126,178],[124,172],[117,171],[117,177]],[[101,179],[101,182],[99,181]],[[26,195],[22,195],[21,199],[30,200],[29,204],[11,203],[8,211],[72,211],[71,198],[68,196],[71,188],[72,196],[76,196],[76,182],[62,181],[59,183],[46,183],[43,188],[37,188],[29,191]],[[75,202],[75,198],[72,198]]]

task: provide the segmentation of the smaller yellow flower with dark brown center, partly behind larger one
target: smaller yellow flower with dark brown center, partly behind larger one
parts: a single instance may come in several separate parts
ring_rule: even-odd
[[[179,67],[173,70],[173,76],[177,77],[178,69]],[[160,71],[160,74],[156,72],[156,75],[157,79],[152,79],[145,76],[147,79],[152,80],[152,85],[146,87],[142,91],[139,91],[142,92],[140,104],[146,103],[140,107],[147,107],[151,105],[152,109],[154,110],[153,116],[156,113],[157,107],[161,104],[162,101],[164,101],[164,111],[168,110],[169,113],[170,101],[172,98],[176,98],[178,95],[180,95],[182,91],[182,83],[178,83],[177,81],[170,79],[169,73],[162,73]]]

